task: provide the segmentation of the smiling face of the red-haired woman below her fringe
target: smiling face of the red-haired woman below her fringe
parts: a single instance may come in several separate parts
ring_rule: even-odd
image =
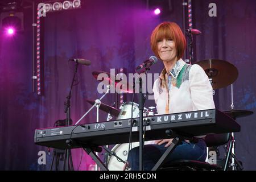
[[[158,54],[162,61],[172,61],[177,57],[177,49],[174,40],[163,39],[158,41]]]

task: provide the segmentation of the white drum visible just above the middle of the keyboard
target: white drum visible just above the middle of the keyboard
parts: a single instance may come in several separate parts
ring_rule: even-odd
[[[120,113],[117,119],[129,119],[131,118],[131,105],[133,104],[133,118],[139,117],[139,105],[135,102],[125,102],[120,107]],[[148,116],[148,109],[144,107],[143,116]]]

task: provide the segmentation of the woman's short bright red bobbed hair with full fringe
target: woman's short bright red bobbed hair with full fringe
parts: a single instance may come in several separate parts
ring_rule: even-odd
[[[151,49],[159,59],[157,43],[159,40],[163,39],[174,40],[177,49],[177,59],[179,60],[183,56],[187,45],[185,36],[180,27],[174,22],[163,22],[152,31],[150,40]]]

